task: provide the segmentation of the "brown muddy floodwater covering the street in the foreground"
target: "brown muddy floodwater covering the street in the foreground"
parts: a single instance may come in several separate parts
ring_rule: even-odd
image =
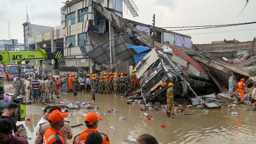
[[[70,125],[79,123],[84,124],[84,115],[88,112],[99,112],[102,120],[99,121],[98,130],[105,133],[112,144],[126,144],[131,138],[138,138],[142,134],[153,135],[159,144],[254,144],[256,140],[255,112],[247,111],[249,107],[222,107],[219,109],[210,109],[209,114],[202,114],[202,109],[194,110],[194,115],[172,115],[174,118],[167,118],[165,111],[157,110],[139,110],[137,104],[126,104],[127,98],[120,98],[114,95],[96,94],[96,101],[91,101],[90,94],[61,93],[59,101],[81,101],[91,102],[93,106],[98,106],[98,110],[82,108],[76,111],[69,111],[67,120]],[[20,134],[28,137],[28,143],[34,143],[36,133],[35,127],[42,117],[43,104],[32,104],[27,107],[27,117],[30,121],[17,122],[26,125],[26,129]],[[153,105],[154,106],[154,105]],[[108,110],[115,108],[116,112],[109,113]],[[182,105],[185,109],[185,106]],[[38,113],[37,115],[31,115]],[[35,112],[36,111],[36,112]],[[152,120],[143,117],[144,112],[152,116]],[[231,112],[239,112],[232,116]],[[172,113],[174,113],[172,111]],[[118,118],[124,116],[124,120]],[[161,125],[165,127],[161,127]],[[85,125],[73,127],[74,136],[81,133],[86,128]],[[73,139],[68,140],[73,143]]]

